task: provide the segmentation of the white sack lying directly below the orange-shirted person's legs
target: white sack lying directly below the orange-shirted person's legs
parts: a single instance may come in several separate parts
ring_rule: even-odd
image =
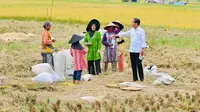
[[[41,64],[32,66],[32,72],[36,75],[41,74],[43,72],[56,75],[55,71],[52,69],[51,65],[48,63],[41,63]]]

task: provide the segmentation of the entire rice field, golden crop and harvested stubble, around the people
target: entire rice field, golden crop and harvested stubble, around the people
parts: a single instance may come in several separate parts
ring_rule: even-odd
[[[119,0],[0,0],[0,112],[199,112],[200,110],[200,5],[186,6],[122,3]],[[48,11],[47,11],[48,10]],[[48,12],[48,14],[47,14]],[[51,20],[55,47],[71,35],[85,31],[88,21],[97,18],[105,26],[112,20],[130,29],[131,19],[139,17],[146,31],[144,66],[175,78],[172,85],[155,86],[145,77],[143,91],[107,88],[106,84],[132,81],[129,38],[119,46],[124,53],[125,71],[102,73],[90,82],[71,81],[38,84],[31,66],[41,63],[42,24]],[[85,72],[86,73],[86,72]],[[89,103],[82,96],[102,96]]]

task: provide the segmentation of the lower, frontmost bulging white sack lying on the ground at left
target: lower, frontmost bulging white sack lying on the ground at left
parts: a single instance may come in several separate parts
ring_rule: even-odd
[[[48,72],[43,72],[32,79],[38,83],[53,83],[60,81],[59,76]]]

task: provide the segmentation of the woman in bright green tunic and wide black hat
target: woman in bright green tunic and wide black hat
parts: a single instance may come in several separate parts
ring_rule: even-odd
[[[100,22],[97,19],[92,19],[86,28],[87,33],[84,37],[85,45],[88,47],[88,73],[92,75],[99,75],[101,73],[101,33],[98,32],[99,29]]]

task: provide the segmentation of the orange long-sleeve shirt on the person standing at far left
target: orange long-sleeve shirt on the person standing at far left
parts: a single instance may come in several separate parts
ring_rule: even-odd
[[[47,45],[52,45],[53,42],[51,40],[51,35],[48,31],[42,32],[42,52],[44,53],[51,53],[53,50],[49,48]]]

